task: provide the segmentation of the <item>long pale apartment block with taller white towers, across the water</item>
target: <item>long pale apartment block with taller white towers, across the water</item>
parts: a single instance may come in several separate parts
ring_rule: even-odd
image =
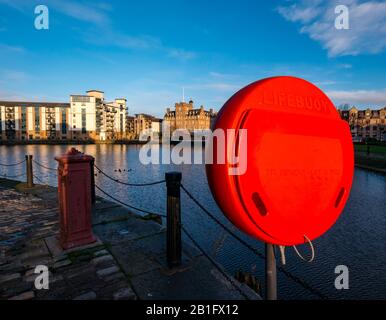
[[[126,138],[126,99],[104,93],[71,95],[70,103],[0,101],[3,141],[113,140]]]

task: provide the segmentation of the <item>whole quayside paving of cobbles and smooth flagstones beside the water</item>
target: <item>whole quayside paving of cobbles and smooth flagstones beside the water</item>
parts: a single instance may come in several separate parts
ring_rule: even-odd
[[[159,219],[98,198],[93,231],[100,240],[63,252],[58,214],[55,188],[25,190],[0,179],[0,300],[260,299],[192,243],[183,242],[182,265],[169,269]],[[50,271],[49,290],[35,288],[40,265]]]

